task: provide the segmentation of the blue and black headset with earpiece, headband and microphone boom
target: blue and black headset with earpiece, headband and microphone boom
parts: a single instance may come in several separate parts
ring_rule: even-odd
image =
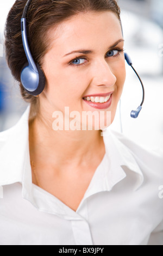
[[[28,14],[28,9],[29,5],[32,0],[28,0],[24,10],[23,10],[23,15],[21,18],[21,32],[22,32],[22,41],[23,41],[23,47],[24,47],[24,52],[26,53],[26,57],[28,62],[23,66],[21,70],[21,83],[26,90],[26,92],[30,95],[37,96],[42,93],[43,89],[45,88],[45,83],[46,83],[46,78],[41,70],[39,64],[35,63],[33,56],[30,52],[29,44],[28,44],[28,35],[27,35],[27,14]],[[121,22],[121,27],[122,27],[122,22]],[[122,29],[122,34],[123,34],[123,29]],[[137,118],[139,116],[139,113],[142,109],[143,102],[145,100],[145,88],[143,86],[143,83],[141,81],[141,78],[137,74],[136,70],[133,68],[133,63],[128,56],[127,53],[124,53],[124,57],[128,63],[129,66],[134,70],[136,76],[139,78],[139,81],[142,86],[143,90],[143,97],[142,97],[142,102],[141,105],[134,111],[131,111],[131,118]]]

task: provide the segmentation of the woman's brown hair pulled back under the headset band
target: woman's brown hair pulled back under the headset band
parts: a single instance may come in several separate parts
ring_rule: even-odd
[[[11,73],[20,83],[22,97],[31,103],[31,109],[36,114],[39,98],[29,95],[20,80],[22,67],[27,62],[20,22],[26,2],[27,0],[16,0],[9,11],[5,26],[5,51]],[[35,62],[41,66],[43,56],[48,51],[47,32],[50,28],[78,13],[87,11],[112,11],[120,20],[120,8],[115,0],[32,0],[27,15],[27,31],[30,51]]]

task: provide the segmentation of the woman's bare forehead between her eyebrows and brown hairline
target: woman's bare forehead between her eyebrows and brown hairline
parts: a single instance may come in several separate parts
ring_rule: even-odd
[[[58,53],[108,46],[122,38],[120,20],[112,11],[77,14],[51,30],[51,46]]]

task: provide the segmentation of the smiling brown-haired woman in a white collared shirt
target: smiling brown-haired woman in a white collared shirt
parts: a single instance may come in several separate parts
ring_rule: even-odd
[[[114,0],[31,1],[28,41],[46,77],[35,97],[20,75],[25,4],[15,2],[5,31],[9,67],[30,105],[0,136],[0,243],[161,244],[162,159],[104,129],[126,78],[120,8]],[[92,122],[82,119],[95,111]]]

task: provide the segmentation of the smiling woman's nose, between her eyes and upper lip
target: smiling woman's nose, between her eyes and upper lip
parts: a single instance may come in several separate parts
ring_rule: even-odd
[[[117,81],[111,67],[105,59],[98,60],[92,66],[92,86],[113,87]]]

